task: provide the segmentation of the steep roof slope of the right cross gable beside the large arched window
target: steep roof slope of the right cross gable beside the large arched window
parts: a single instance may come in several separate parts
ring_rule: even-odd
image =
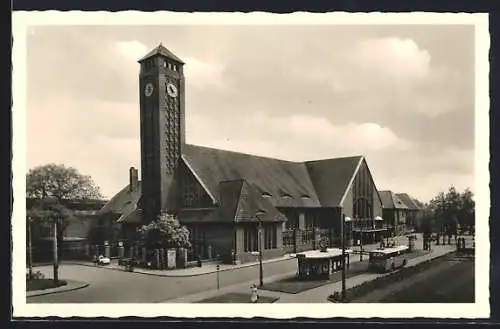
[[[362,156],[352,156],[305,163],[323,207],[341,205],[342,198],[362,160]]]

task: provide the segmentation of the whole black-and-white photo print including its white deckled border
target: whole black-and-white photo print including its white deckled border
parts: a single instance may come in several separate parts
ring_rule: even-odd
[[[489,314],[486,15],[13,24],[14,314]]]

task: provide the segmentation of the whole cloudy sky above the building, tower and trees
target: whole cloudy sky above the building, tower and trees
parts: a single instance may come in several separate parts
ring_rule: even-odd
[[[139,64],[185,64],[186,141],[292,161],[364,155],[379,190],[474,191],[474,27],[37,26],[27,37],[28,168],[140,170]]]

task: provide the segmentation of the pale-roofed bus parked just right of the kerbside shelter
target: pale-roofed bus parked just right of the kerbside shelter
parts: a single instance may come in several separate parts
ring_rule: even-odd
[[[380,248],[370,251],[369,267],[373,271],[388,272],[403,267],[407,263],[408,246]]]

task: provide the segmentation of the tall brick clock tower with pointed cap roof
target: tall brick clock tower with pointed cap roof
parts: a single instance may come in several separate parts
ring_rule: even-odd
[[[162,44],[139,60],[143,219],[178,209],[185,144],[184,62]]]

